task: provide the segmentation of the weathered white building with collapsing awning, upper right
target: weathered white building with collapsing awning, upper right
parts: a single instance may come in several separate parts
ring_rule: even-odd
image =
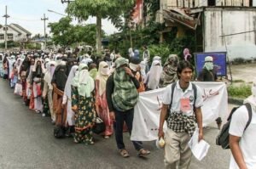
[[[256,59],[256,0],[160,0],[156,21],[165,34],[195,35],[194,52],[228,52],[230,59]]]

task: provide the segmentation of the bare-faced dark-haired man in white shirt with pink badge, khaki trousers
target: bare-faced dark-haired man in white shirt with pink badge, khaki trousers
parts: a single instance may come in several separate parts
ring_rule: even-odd
[[[178,169],[189,168],[192,153],[188,143],[195,131],[195,122],[199,127],[199,141],[203,138],[201,115],[203,100],[200,90],[196,89],[198,87],[190,82],[193,70],[193,66],[188,61],[180,62],[177,65],[179,81],[168,85],[163,96],[159,138],[165,137],[166,168],[177,169],[177,165]],[[163,132],[165,120],[168,127],[166,133]]]

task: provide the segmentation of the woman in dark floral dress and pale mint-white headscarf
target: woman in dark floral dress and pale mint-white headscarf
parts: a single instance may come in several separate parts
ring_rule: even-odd
[[[96,121],[95,82],[88,65],[80,64],[72,83],[72,110],[75,113],[74,142],[94,144],[92,127]]]

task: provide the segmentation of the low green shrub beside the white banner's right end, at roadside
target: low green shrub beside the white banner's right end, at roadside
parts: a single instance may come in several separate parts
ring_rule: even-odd
[[[251,86],[245,83],[241,85],[230,85],[228,87],[228,94],[230,97],[245,99],[252,94]]]

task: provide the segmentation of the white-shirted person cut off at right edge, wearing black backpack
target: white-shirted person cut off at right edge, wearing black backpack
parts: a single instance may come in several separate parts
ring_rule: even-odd
[[[230,169],[256,168],[256,81],[253,82],[252,93],[244,101],[252,107],[252,120],[246,130],[249,115],[245,105],[234,112],[230,121]]]

